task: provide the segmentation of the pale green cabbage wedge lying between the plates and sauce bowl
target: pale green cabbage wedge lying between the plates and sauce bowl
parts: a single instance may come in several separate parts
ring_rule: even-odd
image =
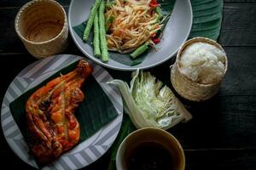
[[[119,87],[125,112],[137,128],[160,127],[166,130],[192,117],[172,90],[156,81],[149,72],[134,72],[131,88],[121,80],[109,83]]]

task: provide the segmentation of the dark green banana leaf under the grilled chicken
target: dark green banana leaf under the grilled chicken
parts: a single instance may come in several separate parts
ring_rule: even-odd
[[[59,77],[61,74],[67,74],[78,65],[79,61],[73,62],[71,65],[61,69],[61,71],[55,72],[51,77],[47,78],[44,82],[38,84],[38,86],[29,89],[26,93],[20,95],[12,103],[9,108],[12,116],[14,116],[15,122],[20,128],[26,143],[30,144],[30,133],[27,130],[26,125],[26,100],[35,92],[38,88],[44,86],[47,82]],[[108,99],[107,94],[103,91],[100,84],[96,82],[96,79],[92,76],[88,77],[81,88],[84,92],[84,101],[79,105],[79,108],[75,111],[75,116],[80,124],[80,141],[88,139],[93,133],[96,133],[101,127],[111,122],[113,118],[118,116],[113,103]],[[40,164],[38,164],[40,166]]]

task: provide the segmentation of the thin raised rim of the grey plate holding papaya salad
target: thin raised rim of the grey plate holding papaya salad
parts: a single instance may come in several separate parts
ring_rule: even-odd
[[[78,0],[76,0],[78,1]],[[189,4],[189,13],[191,14],[190,15],[190,18],[189,20],[191,21],[190,22],[190,26],[189,26],[189,31],[187,32],[187,35],[185,36],[185,39],[183,40],[183,42],[181,43],[180,47],[182,46],[182,44],[184,42],[186,42],[186,40],[189,38],[189,34],[190,34],[190,31],[192,29],[192,25],[193,25],[193,10],[192,10],[192,6],[191,6],[191,2],[189,0],[185,0],[187,1],[187,3]],[[75,2],[74,0],[71,0],[70,4],[69,4],[69,8],[68,8],[68,16],[67,16],[67,19],[68,19],[68,29],[69,29],[69,32],[71,34],[71,37],[73,39],[73,42],[76,44],[76,46],[79,48],[79,50],[86,56],[88,57],[89,59],[93,60],[94,62],[96,62],[96,64],[98,65],[102,65],[102,66],[105,66],[109,69],[113,69],[113,70],[117,70],[117,71],[136,71],[137,69],[141,69],[141,70],[145,70],[145,69],[150,69],[150,68],[153,68],[157,65],[160,65],[160,64],[163,64],[165,63],[168,59],[172,59],[172,57],[177,54],[177,51],[179,50],[179,48],[177,48],[172,54],[168,55],[166,57],[166,59],[163,59],[163,60],[160,60],[159,62],[157,63],[154,63],[152,65],[146,65],[146,66],[137,66],[137,65],[134,65],[134,66],[129,66],[129,68],[123,68],[121,66],[114,66],[114,65],[108,65],[108,63],[103,63],[101,60],[97,60],[96,57],[94,56],[91,56],[90,54],[88,54],[84,48],[82,48],[79,44],[78,41],[76,41],[76,37],[75,37],[75,32],[73,31],[73,26],[71,26],[71,8],[73,7],[73,2]],[[175,6],[174,6],[175,8]]]

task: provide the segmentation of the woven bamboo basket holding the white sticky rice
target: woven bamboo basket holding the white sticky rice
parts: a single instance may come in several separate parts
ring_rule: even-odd
[[[177,91],[177,94],[181,95],[184,99],[189,99],[192,101],[204,101],[212,98],[213,95],[218,93],[218,88],[222,82],[222,79],[219,80],[218,82],[201,84],[198,82],[193,82],[188,77],[184,76],[183,73],[181,73],[180,58],[181,58],[181,55],[183,54],[183,50],[194,42],[207,42],[224,51],[224,48],[222,48],[217,42],[211,39],[208,39],[206,37],[195,37],[190,39],[187,42],[184,42],[184,44],[182,45],[182,47],[179,49],[177,53],[176,62],[172,66],[171,81],[172,81],[173,88],[175,88],[175,90]],[[225,66],[225,70],[224,70],[224,74],[225,74],[228,68],[228,59],[226,56],[225,56],[224,66]]]

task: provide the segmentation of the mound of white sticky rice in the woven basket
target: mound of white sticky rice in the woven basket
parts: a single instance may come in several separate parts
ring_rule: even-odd
[[[206,42],[195,42],[183,50],[180,71],[193,82],[210,84],[224,77],[225,53]]]

